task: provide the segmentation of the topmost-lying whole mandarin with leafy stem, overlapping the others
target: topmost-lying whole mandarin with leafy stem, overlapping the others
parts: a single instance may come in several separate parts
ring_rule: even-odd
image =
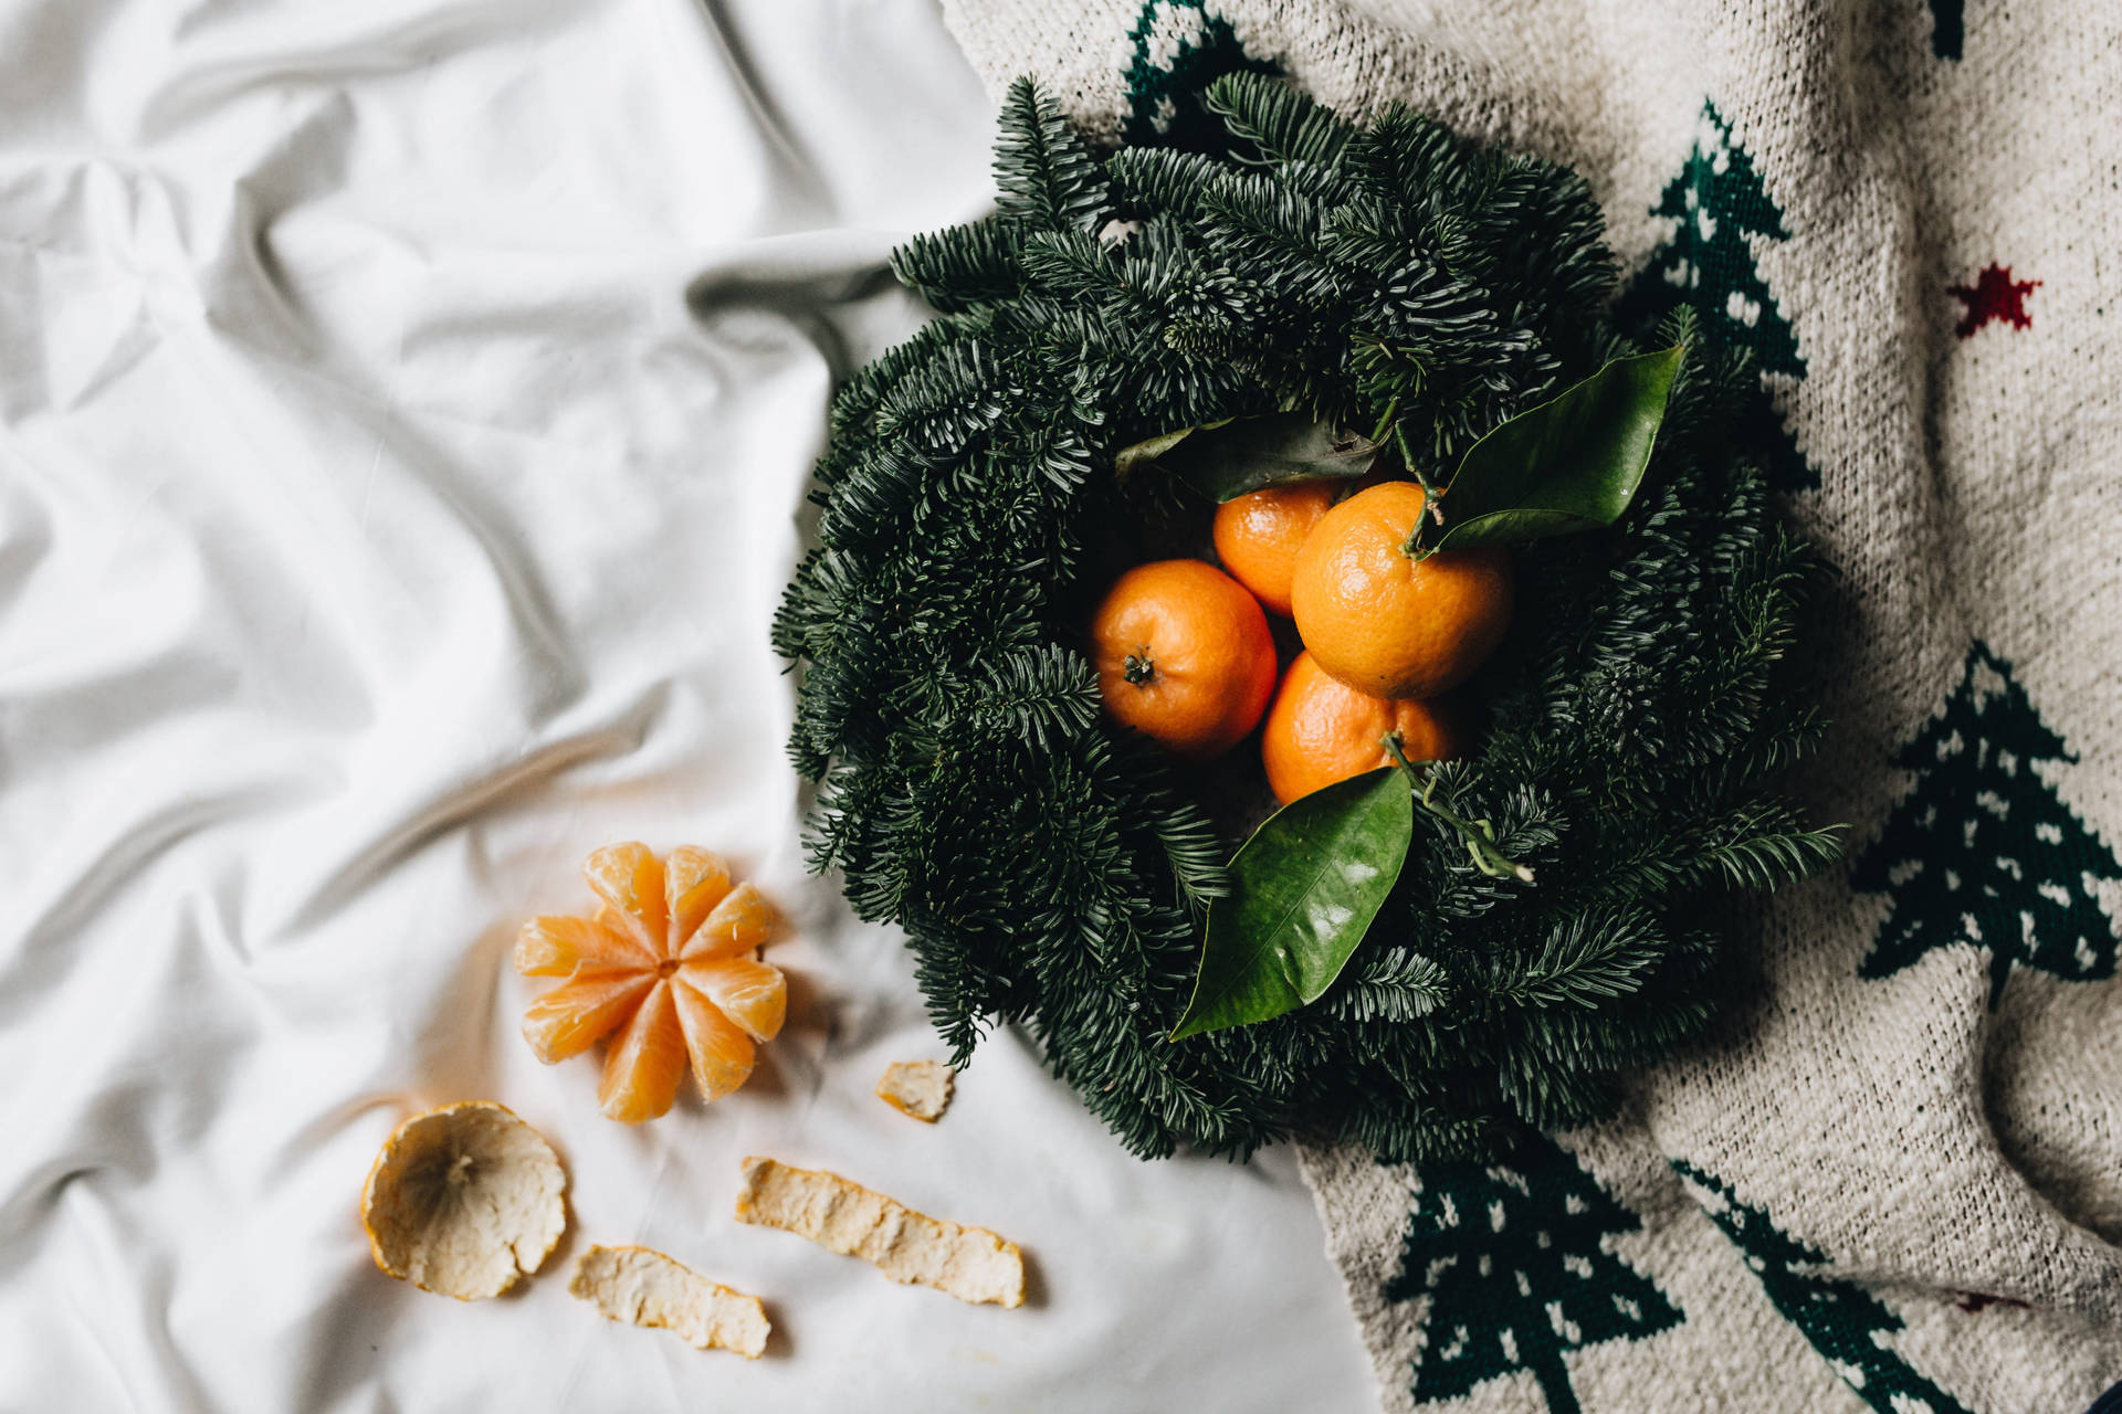
[[[1330,509],[1297,551],[1297,634],[1330,676],[1373,697],[1464,683],[1511,625],[1511,558],[1494,545],[1405,553],[1422,488],[1373,485]]]

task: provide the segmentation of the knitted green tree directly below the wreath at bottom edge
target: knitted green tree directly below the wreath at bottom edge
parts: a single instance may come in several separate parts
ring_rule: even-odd
[[[1564,1353],[1681,1323],[1604,1247],[1642,1221],[1553,1143],[1528,1141],[1502,1166],[1426,1164],[1420,1181],[1401,1274],[1386,1283],[1386,1300],[1424,1302],[1415,1403],[1526,1372],[1551,1414],[1577,1414]]]

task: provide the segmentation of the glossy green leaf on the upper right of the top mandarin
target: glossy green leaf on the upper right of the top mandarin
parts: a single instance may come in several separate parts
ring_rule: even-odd
[[[1636,498],[1687,346],[1615,358],[1466,449],[1434,549],[1611,526]]]

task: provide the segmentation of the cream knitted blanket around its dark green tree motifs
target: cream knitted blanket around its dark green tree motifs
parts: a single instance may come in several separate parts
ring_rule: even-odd
[[[944,0],[944,11],[993,91],[1038,74],[1103,138],[1131,117],[1169,114],[1135,112],[1131,66],[1169,70],[1222,21],[1250,57],[1343,110],[1398,98],[1577,165],[1623,271],[1674,240],[1679,220],[1710,225],[1708,212],[1651,214],[1691,153],[1723,172],[1704,104],[1780,212],[1785,235],[1746,237],[1774,307],[1734,295],[1729,312],[1749,324],[1780,316],[1795,337],[1802,375],[1766,375],[1819,475],[1791,509],[1844,570],[1821,625],[1833,636],[1836,729],[1806,789],[1821,818],[1853,825],[1853,859],[1889,848],[1893,829],[1920,844],[1893,865],[1891,886],[1859,890],[1836,869],[1778,899],[1759,922],[1759,1007],[1634,1077],[1623,1117],[1562,1136],[1640,1219],[1604,1253],[1683,1316],[1568,1350],[1566,1382],[1504,1369],[1417,1399],[1454,1319],[1428,1297],[1388,1295],[1409,1278],[1403,1238],[1422,1179],[1350,1149],[1305,1153],[1384,1408],[2052,1414],[2122,1380],[2122,984],[2111,975],[2122,886],[2118,869],[2084,863],[2122,846],[2114,6]],[[1971,659],[1978,642],[1986,655]],[[2065,750],[2027,761],[2001,738],[1965,740],[1956,695],[1967,708],[2010,706],[2014,693]],[[2065,975],[2069,962],[1999,965],[1993,1005],[1995,948],[1976,943],[1973,914],[1944,920],[1963,931],[1959,943],[1859,973],[1916,909],[1895,890],[1918,876],[1973,886],[1944,878],[1959,831],[1971,844],[1984,810],[2005,820],[1993,793],[1937,784],[1940,810],[1910,808],[1920,818],[1895,825],[1923,778],[1908,765],[1927,767],[1901,753],[1933,721],[1946,727],[1923,740],[1940,763],[2029,770],[2075,816],[2060,827],[2075,854],[2046,848],[2058,827],[2041,825],[2041,848],[1986,863],[2052,899],[2075,888],[2097,901],[2075,941],[2086,977]],[[1948,780],[1976,778],[1942,772]],[[2022,922],[2024,937],[2001,943],[2020,956],[2054,926],[2033,905]],[[1804,1244],[1816,1257],[1808,1274],[1891,1312],[1872,1336],[1880,1359],[1935,1393],[1829,1359],[1776,1304],[1761,1257],[1749,1261],[1712,1221],[1727,1200],[1674,1162]],[[1562,1308],[1551,1314],[1560,1329]]]

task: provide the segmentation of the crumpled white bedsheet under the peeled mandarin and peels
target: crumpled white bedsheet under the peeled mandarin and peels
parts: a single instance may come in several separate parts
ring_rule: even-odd
[[[925,0],[0,0],[0,1410],[1360,1410],[1286,1153],[1142,1164],[1002,1035],[925,1128],[908,954],[802,869],[766,630],[879,269],[989,197]],[[516,1035],[581,856],[792,916],[753,1083],[641,1130]],[[384,1278],[407,1113],[569,1168],[528,1289]],[[1019,1240],[1025,1310],[738,1227],[819,1164]],[[567,1295],[645,1242],[768,1359]]]

